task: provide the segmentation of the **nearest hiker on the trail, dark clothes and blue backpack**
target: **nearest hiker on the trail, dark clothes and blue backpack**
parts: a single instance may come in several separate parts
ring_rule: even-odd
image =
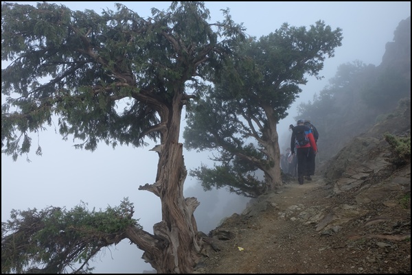
[[[304,176],[309,165],[309,152],[312,150],[317,153],[317,145],[314,141],[312,130],[304,125],[303,119],[297,121],[297,125],[293,127],[292,136],[290,137],[290,150],[297,157],[297,181],[299,184],[304,184]]]

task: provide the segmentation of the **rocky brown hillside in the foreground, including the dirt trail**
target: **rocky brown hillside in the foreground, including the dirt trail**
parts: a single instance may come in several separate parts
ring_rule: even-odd
[[[411,164],[382,134],[411,133],[404,104],[354,137],[312,182],[251,202],[205,239],[196,273],[411,273]]]

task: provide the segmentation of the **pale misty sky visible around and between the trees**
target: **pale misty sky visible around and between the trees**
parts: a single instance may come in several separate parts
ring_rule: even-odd
[[[16,3],[30,3],[10,1]],[[115,2],[101,1],[70,1],[62,3],[71,10],[93,9],[100,13],[102,9],[115,10]],[[150,9],[166,10],[170,2],[133,1],[124,3],[128,8],[140,16],[150,16]],[[281,27],[282,23],[293,26],[313,25],[323,20],[332,29],[343,29],[342,46],[336,49],[334,58],[324,62],[324,69],[320,72],[325,78],[315,80],[309,77],[308,84],[301,86],[303,93],[290,107],[289,116],[280,121],[278,132],[279,143],[290,138],[288,125],[295,123],[297,105],[312,100],[315,93],[319,93],[331,77],[334,77],[336,68],[343,63],[361,60],[365,64],[378,66],[385,53],[385,44],[393,40],[393,32],[403,19],[411,15],[411,2],[230,2],[206,1],[206,8],[210,10],[211,21],[223,19],[220,9],[229,8],[233,21],[243,23],[250,36],[264,36]],[[7,63],[2,62],[2,69]],[[4,97],[1,101],[3,104]],[[184,115],[182,116],[184,118]],[[312,121],[316,125],[316,121]],[[42,209],[46,206],[65,206],[70,209],[80,202],[86,202],[89,209],[105,209],[107,206],[117,206],[128,197],[135,204],[136,219],[144,229],[152,233],[153,224],[161,221],[161,205],[156,195],[148,191],[139,191],[139,185],[155,181],[158,156],[148,150],[149,147],[117,147],[113,150],[105,144],[100,144],[95,152],[75,150],[73,141],[62,141],[56,127],[41,132],[39,136],[32,135],[34,148],[39,143],[43,149],[43,156],[36,156],[35,149],[29,154],[31,163],[27,163],[26,156],[21,156],[16,162],[11,156],[1,155],[1,221],[10,218],[10,211],[27,208]],[[182,132],[185,121],[182,123]],[[322,133],[319,133],[320,136]],[[181,143],[184,143],[181,137]],[[281,151],[283,151],[281,147]],[[286,148],[285,148],[286,149]],[[208,160],[209,153],[187,152],[183,150],[187,169],[194,169]],[[194,178],[189,176],[185,182],[185,192],[201,191],[201,187]],[[186,194],[186,193],[185,193]],[[211,207],[210,200],[219,200],[211,214],[225,217],[235,211],[240,213],[247,200],[231,195],[224,190],[207,192],[198,196],[201,205],[196,213],[207,213]],[[227,211],[222,210],[225,208]],[[201,222],[198,222],[201,224]],[[217,224],[199,226],[199,230],[208,233]],[[141,273],[152,270],[148,263],[141,258],[143,252],[128,241],[122,241],[117,247],[106,250],[95,262],[96,273]]]

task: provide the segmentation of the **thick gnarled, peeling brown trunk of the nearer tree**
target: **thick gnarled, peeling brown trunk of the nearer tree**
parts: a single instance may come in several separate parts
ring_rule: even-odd
[[[174,93],[168,112],[160,113],[161,121],[167,121],[167,130],[161,135],[163,149],[159,152],[156,182],[150,187],[139,188],[152,191],[161,200],[162,221],[153,226],[152,245],[142,243],[143,240],[133,241],[145,251],[142,258],[158,273],[192,273],[201,251],[201,237],[198,237],[194,219],[199,203],[196,198],[185,199],[183,196],[187,170],[183,144],[179,143],[182,95],[183,92]],[[133,237],[138,230],[129,233]]]

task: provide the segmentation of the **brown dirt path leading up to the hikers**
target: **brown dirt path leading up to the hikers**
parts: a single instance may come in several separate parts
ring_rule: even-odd
[[[328,273],[322,255],[327,245],[317,238],[314,225],[303,225],[294,217],[319,203],[322,186],[316,176],[302,185],[286,184],[262,215],[233,219],[229,224],[236,238],[224,242],[205,273]]]

